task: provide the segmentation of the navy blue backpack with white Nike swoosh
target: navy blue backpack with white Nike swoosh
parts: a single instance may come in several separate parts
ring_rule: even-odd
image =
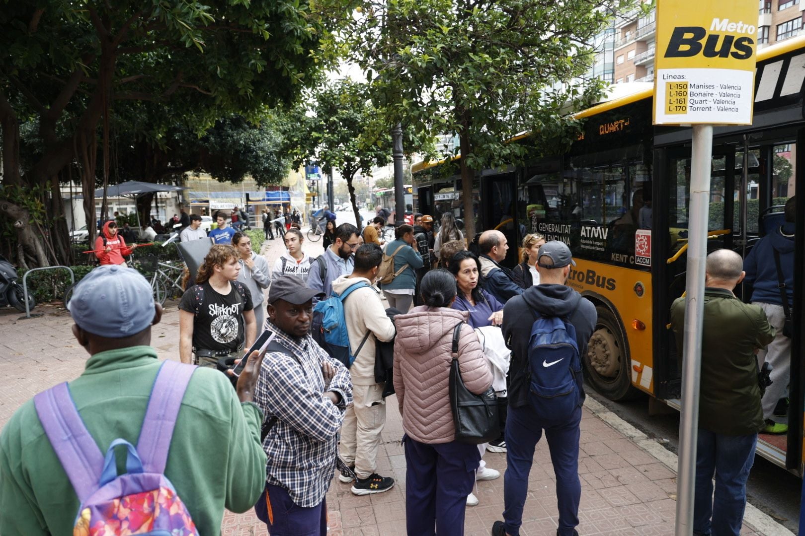
[[[579,302],[581,297],[579,297]],[[576,312],[579,305],[573,309]],[[531,325],[528,342],[528,400],[538,418],[568,420],[579,406],[581,393],[576,377],[581,374],[576,328],[570,317],[541,317]]]

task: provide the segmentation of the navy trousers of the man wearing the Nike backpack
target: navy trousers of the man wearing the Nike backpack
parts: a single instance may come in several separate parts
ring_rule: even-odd
[[[503,477],[503,520],[506,533],[519,536],[522,508],[528,493],[528,473],[534,450],[543,436],[551,450],[559,503],[559,536],[572,536],[579,524],[579,437],[581,408],[564,422],[539,421],[529,406],[509,407],[506,415],[506,474]]]

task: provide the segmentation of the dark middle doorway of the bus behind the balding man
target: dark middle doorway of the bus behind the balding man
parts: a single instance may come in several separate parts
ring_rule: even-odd
[[[481,178],[481,225],[483,230],[497,229],[506,235],[509,251],[502,265],[514,268],[518,264],[518,246],[525,233],[520,229],[517,215],[517,194],[514,173]],[[476,229],[481,231],[481,229]],[[469,237],[472,239],[472,237]]]

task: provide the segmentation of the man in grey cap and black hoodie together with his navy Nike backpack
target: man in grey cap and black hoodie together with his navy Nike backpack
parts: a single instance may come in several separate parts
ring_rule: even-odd
[[[579,424],[584,403],[580,356],[587,351],[597,313],[591,301],[565,284],[576,262],[564,242],[543,244],[536,265],[539,285],[526,288],[503,308],[503,338],[512,350],[511,385],[506,415],[507,468],[503,481],[505,521],[494,523],[493,536],[520,534],[528,475],[543,431],[556,475],[559,502],[556,534],[578,534]],[[523,322],[525,318],[533,319],[533,325]],[[533,345],[530,344],[532,333],[535,333]],[[561,388],[542,393],[541,387],[535,387],[535,380],[540,386]],[[562,394],[556,395],[557,392]]]

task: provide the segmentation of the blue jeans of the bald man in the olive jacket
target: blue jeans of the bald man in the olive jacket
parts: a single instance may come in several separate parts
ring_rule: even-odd
[[[738,536],[746,508],[746,480],[758,434],[725,436],[699,428],[696,436],[696,494],[693,534]],[[712,477],[716,474],[716,494]]]

